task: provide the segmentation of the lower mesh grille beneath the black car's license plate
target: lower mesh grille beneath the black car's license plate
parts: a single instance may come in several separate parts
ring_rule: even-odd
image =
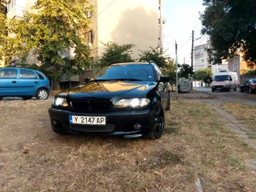
[[[91,126],[91,125],[77,125],[77,124],[70,124],[69,125],[70,129],[74,131],[79,131],[79,132],[105,132],[109,133],[114,130],[114,125],[113,124],[106,124],[105,126]]]

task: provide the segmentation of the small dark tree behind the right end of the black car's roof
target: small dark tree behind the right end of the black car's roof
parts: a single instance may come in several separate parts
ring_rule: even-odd
[[[155,62],[155,64],[159,67],[159,68],[163,68],[166,65],[166,57],[165,57],[165,51],[163,48],[155,49],[155,48],[151,48],[150,50],[145,50],[142,51],[140,56],[139,61],[149,61],[149,60],[153,60]]]

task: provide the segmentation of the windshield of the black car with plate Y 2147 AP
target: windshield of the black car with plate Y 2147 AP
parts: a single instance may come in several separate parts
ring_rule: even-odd
[[[153,81],[153,67],[148,64],[112,64],[96,73],[94,80]]]

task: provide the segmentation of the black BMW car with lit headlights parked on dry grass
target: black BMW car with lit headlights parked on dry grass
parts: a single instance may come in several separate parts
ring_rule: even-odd
[[[52,129],[158,139],[170,109],[168,81],[154,62],[111,64],[87,83],[54,96],[48,109]]]

